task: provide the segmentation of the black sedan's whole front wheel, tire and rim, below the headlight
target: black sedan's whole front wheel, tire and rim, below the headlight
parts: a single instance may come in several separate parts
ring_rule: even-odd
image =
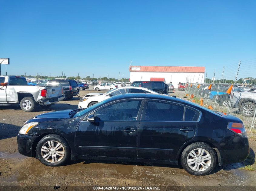
[[[52,148],[56,149],[51,149],[50,146],[52,144],[54,145]],[[46,135],[36,146],[36,156],[46,166],[56,167],[65,164],[71,160],[70,153],[68,142],[61,136],[55,134]]]

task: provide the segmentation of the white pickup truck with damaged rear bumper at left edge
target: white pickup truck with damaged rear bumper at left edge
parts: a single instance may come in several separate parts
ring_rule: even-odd
[[[61,86],[52,88],[28,86],[24,77],[0,76],[0,104],[19,103],[23,111],[32,112],[36,105],[49,108],[64,98]]]

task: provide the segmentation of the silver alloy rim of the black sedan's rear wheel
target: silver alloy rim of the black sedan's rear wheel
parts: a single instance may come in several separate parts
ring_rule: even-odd
[[[196,148],[189,152],[187,164],[192,170],[202,172],[210,167],[211,155],[203,148]]]

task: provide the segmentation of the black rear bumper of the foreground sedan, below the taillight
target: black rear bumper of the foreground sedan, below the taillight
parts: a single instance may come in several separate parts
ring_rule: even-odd
[[[248,138],[244,138],[244,139],[245,139],[244,148],[219,151],[219,154],[220,154],[219,166],[242,162],[248,157],[248,155],[250,154],[250,146],[249,146]]]

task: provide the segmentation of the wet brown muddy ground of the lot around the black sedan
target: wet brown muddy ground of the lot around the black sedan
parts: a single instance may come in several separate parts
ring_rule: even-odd
[[[81,91],[80,96],[89,92],[93,91]],[[175,91],[171,95],[182,98],[185,93]],[[77,108],[78,102],[74,97],[50,109],[38,107],[32,113],[22,111],[19,105],[0,106],[0,186],[256,186],[255,171],[239,169],[245,165],[256,168],[256,132],[248,132],[251,153],[245,162],[217,167],[214,173],[201,177],[188,174],[181,166],[145,163],[80,160],[47,167],[18,153],[16,135],[26,120],[45,112]]]

